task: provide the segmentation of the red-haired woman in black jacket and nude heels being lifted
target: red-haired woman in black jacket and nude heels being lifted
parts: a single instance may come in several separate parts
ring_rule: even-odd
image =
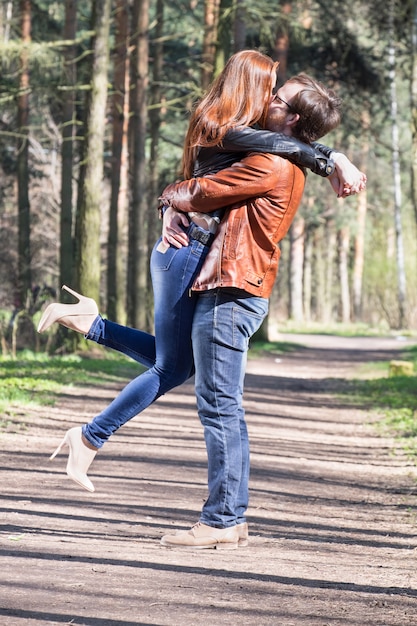
[[[223,169],[248,151],[291,156],[297,164],[312,167],[316,172],[326,170],[329,159],[320,148],[268,131],[257,134],[249,128],[263,124],[276,86],[277,66],[269,57],[256,51],[243,51],[229,59],[191,117],[183,158],[186,177]],[[254,94],[254,98],[248,98],[248,94]],[[260,142],[260,147],[256,148],[255,142]],[[328,155],[331,153],[328,148],[322,149]],[[349,161],[347,163],[353,168],[349,170],[348,182],[358,187],[360,172]],[[345,193],[337,175],[332,179],[332,185],[339,193]],[[208,219],[207,214],[191,214],[191,217],[185,231],[188,246],[175,248],[164,245],[159,239],[152,251],[155,336],[103,320],[92,299],[65,286],[64,289],[79,299],[78,304],[51,304],[39,323],[39,332],[58,322],[149,368],[132,380],[89,424],[71,428],[51,456],[53,459],[63,446],[68,445],[67,474],[88,491],[94,491],[94,486],[87,470],[105,441],[193,373],[191,326],[195,299],[189,290],[207,255],[220,218],[215,214],[210,214]]]

